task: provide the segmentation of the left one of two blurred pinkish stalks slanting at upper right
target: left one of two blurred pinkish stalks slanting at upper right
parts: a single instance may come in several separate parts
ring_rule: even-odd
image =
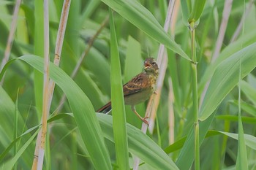
[[[233,0],[225,0],[225,5],[223,8],[223,14],[222,14],[222,23],[219,27],[219,35],[217,38],[214,55],[211,58],[211,63],[214,63],[214,61],[216,61],[216,59],[219,56],[220,48],[222,47],[225,31],[227,28],[227,22],[228,22],[228,19],[230,16],[231,8],[232,8],[232,3],[233,3]],[[201,107],[201,105],[203,103],[203,98],[206,96],[206,91],[208,89],[209,83],[210,83],[210,80],[208,80],[208,82],[206,82],[205,88],[203,89],[203,93],[200,96],[199,108]]]

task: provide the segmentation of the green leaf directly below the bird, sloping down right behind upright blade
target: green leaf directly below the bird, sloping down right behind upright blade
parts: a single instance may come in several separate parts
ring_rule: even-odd
[[[97,117],[105,137],[113,142],[112,118],[110,115],[102,114],[97,114]],[[142,161],[145,161],[155,169],[178,169],[176,164],[152,139],[128,123],[127,135],[129,152],[137,155]]]

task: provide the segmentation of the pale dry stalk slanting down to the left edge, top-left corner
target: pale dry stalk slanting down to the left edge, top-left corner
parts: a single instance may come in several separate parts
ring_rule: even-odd
[[[10,53],[11,53],[11,49],[12,49],[12,42],[13,42],[16,27],[17,27],[17,20],[18,20],[18,13],[19,13],[19,9],[20,9],[20,3],[21,3],[21,0],[17,0],[16,4],[15,4],[13,16],[12,16],[12,23],[11,23],[10,33],[9,33],[9,36],[8,36],[8,39],[7,39],[7,47],[5,48],[5,51],[4,51],[4,58],[1,61],[0,72],[4,68],[4,65],[7,63],[7,61],[9,61],[9,58],[10,58]],[[3,83],[4,83],[4,77],[2,77],[0,85],[3,85]]]

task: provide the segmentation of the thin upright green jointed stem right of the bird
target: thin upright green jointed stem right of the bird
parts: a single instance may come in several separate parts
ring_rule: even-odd
[[[195,23],[190,23],[191,52],[192,52],[192,100],[194,113],[195,133],[195,169],[200,169],[200,145],[199,145],[199,123],[198,123],[198,101],[197,101],[197,57],[195,50]]]

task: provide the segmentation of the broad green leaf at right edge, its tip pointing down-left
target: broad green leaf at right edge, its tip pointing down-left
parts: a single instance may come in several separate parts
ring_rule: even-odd
[[[217,66],[200,108],[200,120],[205,120],[209,117],[227,96],[227,93],[237,85],[240,59],[242,66],[241,78],[252,72],[252,69],[256,66],[255,53],[256,43],[231,55]]]

